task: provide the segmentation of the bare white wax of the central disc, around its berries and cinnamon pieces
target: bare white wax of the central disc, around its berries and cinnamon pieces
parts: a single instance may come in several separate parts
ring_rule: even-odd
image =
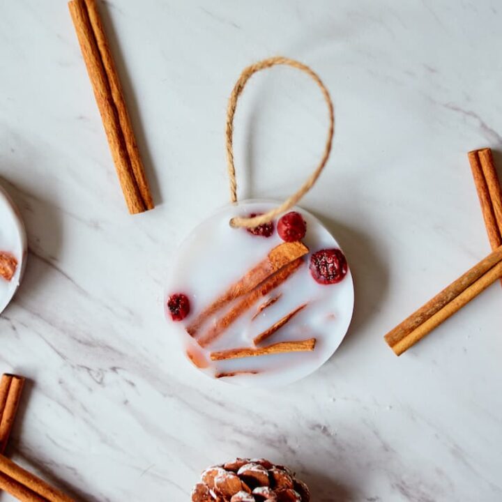
[[[265,259],[272,248],[283,242],[277,234],[277,221],[274,222],[273,236],[265,238],[249,234],[245,229],[231,228],[229,220],[234,216],[264,213],[276,206],[275,202],[270,201],[243,201],[238,205],[226,206],[201,223],[181,245],[171,264],[166,299],[176,293],[185,294],[190,299],[190,314],[183,321],[174,322],[167,315],[169,334],[178,333],[183,353],[188,347],[197,347],[197,343],[185,330],[197,314]],[[310,255],[322,249],[340,246],[317,218],[301,208],[294,208],[294,211],[301,213],[307,223],[303,243],[310,252],[303,257],[303,265],[238,317],[220,337],[206,347],[204,353],[208,356],[211,351],[254,347],[254,337],[304,303],[307,306],[261,346],[314,337],[317,339],[314,351],[212,362],[208,368],[201,370],[209,376],[214,377],[220,372],[257,371],[257,374],[238,375],[222,380],[246,386],[291,383],[325,363],[347,333],[353,311],[350,257],[347,257],[349,272],[340,283],[318,284],[309,271]],[[281,296],[278,301],[252,319],[259,305],[279,294]],[[231,305],[215,312],[199,335],[204,334]]]

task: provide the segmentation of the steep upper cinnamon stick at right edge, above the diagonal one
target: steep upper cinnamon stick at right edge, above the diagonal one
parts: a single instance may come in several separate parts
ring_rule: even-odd
[[[481,152],[483,152],[482,155]],[[471,164],[474,183],[476,184],[476,190],[478,191],[478,197],[480,200],[483,219],[485,220],[489,243],[492,246],[492,250],[494,250],[502,245],[502,225],[500,227],[497,225],[494,211],[494,200],[497,204],[496,201],[501,198],[501,195],[499,181],[493,164],[492,153],[489,149],[473,150],[468,153],[468,157],[469,163]],[[481,162],[481,160],[483,160],[483,162]],[[488,186],[487,178],[490,179],[490,185],[492,187],[491,191]],[[492,193],[494,195],[494,199],[492,199]],[[502,223],[502,220],[500,221]]]

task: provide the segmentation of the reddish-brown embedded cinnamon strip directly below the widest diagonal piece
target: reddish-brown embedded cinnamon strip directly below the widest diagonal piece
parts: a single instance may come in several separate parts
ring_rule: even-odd
[[[197,339],[197,342],[201,347],[206,347],[208,344],[213,342],[218,336],[220,336],[238,317],[241,317],[244,312],[249,310],[262,296],[267,295],[277,286],[282,284],[287,278],[296,272],[298,268],[303,264],[303,259],[298,258],[295,261],[291,261],[280,271],[268,277],[264,280],[259,287],[253,289],[249,294],[244,296],[241,301],[234,305],[234,307],[227,312],[223,317],[218,319],[214,326],[211,326],[204,335]]]

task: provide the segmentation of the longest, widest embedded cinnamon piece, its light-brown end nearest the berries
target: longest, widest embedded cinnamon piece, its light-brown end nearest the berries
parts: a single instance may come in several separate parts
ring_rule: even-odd
[[[273,248],[264,260],[261,260],[259,264],[248,271],[240,280],[232,284],[224,294],[216,298],[211,305],[206,307],[197,316],[197,319],[188,326],[188,333],[195,336],[202,324],[204,324],[211,315],[218,312],[218,310],[225,307],[225,305],[232,300],[249,293],[252,289],[257,287],[258,284],[266,280],[267,277],[270,277],[273,273],[291,263],[291,261],[303,257],[307,252],[307,246],[301,242],[282,243]]]

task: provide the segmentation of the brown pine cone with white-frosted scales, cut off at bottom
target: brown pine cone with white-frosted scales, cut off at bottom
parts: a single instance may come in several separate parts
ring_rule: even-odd
[[[236,459],[206,469],[192,502],[309,502],[310,492],[287,467],[264,459]]]

